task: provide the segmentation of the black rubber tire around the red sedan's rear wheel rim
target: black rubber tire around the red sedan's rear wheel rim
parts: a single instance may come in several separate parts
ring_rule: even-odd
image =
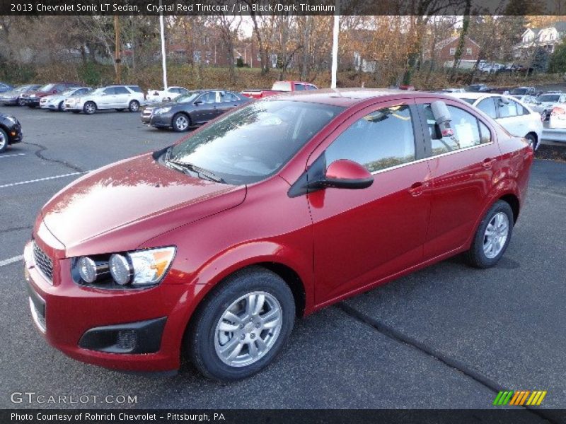
[[[495,257],[490,258],[487,257],[487,255],[484,252],[484,242],[486,240],[485,231],[487,229],[487,225],[490,224],[490,221],[492,220],[492,218],[495,217],[495,215],[497,215],[497,213],[504,213],[507,216],[508,232],[507,232],[507,238],[504,244],[502,245],[502,248],[499,251],[499,253]],[[509,246],[509,242],[511,241],[511,237],[513,234],[513,225],[514,225],[514,218],[513,218],[513,210],[511,206],[509,206],[509,204],[506,201],[502,201],[502,200],[496,201],[495,204],[493,204],[493,206],[490,208],[490,210],[487,211],[487,213],[485,213],[485,216],[483,217],[483,219],[480,222],[480,225],[478,226],[478,230],[475,232],[470,249],[468,250],[468,252],[466,252],[466,254],[464,254],[464,257],[468,262],[468,264],[475,268],[481,268],[481,269],[490,268],[495,264],[497,264],[499,259],[501,259],[501,257],[505,253],[507,246]]]

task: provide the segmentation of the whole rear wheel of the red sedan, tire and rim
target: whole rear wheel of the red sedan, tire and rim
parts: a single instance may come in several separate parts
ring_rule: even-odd
[[[490,208],[475,232],[472,246],[466,252],[468,264],[490,268],[505,253],[513,232],[513,211],[506,201],[499,200]]]

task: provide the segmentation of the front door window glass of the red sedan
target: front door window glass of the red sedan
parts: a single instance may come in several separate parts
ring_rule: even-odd
[[[349,159],[369,172],[415,160],[415,134],[407,105],[385,107],[346,129],[326,149],[326,163]]]

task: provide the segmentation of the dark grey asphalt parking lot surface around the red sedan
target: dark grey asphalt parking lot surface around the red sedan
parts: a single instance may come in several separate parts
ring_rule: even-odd
[[[539,409],[566,408],[566,163],[536,160],[495,268],[470,269],[456,257],[328,307],[296,323],[277,363],[219,384],[188,364],[156,377],[65,357],[33,325],[18,259],[37,211],[59,189],[179,134],[127,112],[0,112],[21,120],[25,137],[0,155],[0,408],[66,406],[13,404],[11,394],[24,391],[137,396],[137,404],[67,405],[88,408],[489,408],[499,389],[547,390]]]

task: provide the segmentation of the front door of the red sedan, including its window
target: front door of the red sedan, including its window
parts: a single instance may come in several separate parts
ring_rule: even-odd
[[[318,304],[422,260],[430,196],[421,128],[412,100],[381,102],[352,115],[309,158],[354,160],[374,176],[366,189],[307,194]]]

